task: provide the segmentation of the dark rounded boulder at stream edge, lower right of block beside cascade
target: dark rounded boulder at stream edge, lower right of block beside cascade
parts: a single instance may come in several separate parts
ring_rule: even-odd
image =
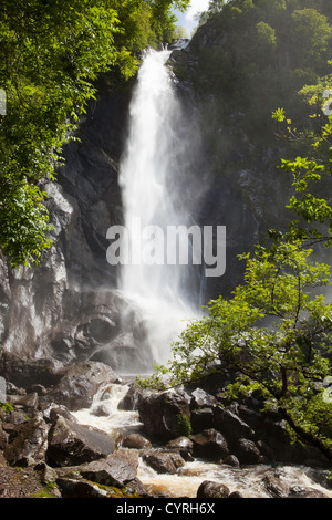
[[[206,460],[219,461],[229,455],[226,438],[214,428],[205,429],[191,436],[194,456]]]

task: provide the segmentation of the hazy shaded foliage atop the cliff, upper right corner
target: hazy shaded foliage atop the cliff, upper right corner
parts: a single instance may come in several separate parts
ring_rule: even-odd
[[[193,82],[203,95],[208,89],[226,114],[245,114],[241,125],[250,135],[271,141],[267,121],[278,106],[294,121],[305,121],[298,92],[328,73],[331,14],[323,1],[210,2],[197,32],[215,34],[216,43],[196,50],[199,75]]]

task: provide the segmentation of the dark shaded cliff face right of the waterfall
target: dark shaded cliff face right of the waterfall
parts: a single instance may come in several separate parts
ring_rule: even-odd
[[[290,217],[286,209],[290,179],[278,168],[287,143],[274,136],[271,113],[262,126],[261,114],[250,121],[252,114],[240,107],[239,83],[229,80],[226,87],[224,80],[220,85],[214,83],[224,75],[214,56],[230,52],[229,40],[218,21],[210,20],[169,60],[188,119],[195,121],[200,134],[200,157],[191,184],[201,193],[195,218],[201,226],[227,229],[226,273],[205,280],[204,302],[229,295],[242,280],[243,262],[238,254],[269,240],[269,228],[284,229]],[[252,104],[259,104],[259,96],[257,92]]]

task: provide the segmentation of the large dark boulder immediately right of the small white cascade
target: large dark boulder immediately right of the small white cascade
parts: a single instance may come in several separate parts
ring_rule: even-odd
[[[180,389],[152,392],[142,398],[138,413],[152,439],[168,441],[181,435],[183,419],[190,419],[190,398]]]

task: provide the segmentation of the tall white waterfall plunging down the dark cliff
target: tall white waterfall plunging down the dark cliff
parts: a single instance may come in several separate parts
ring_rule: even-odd
[[[188,295],[190,267],[174,260],[180,238],[166,240],[169,227],[178,231],[184,227],[186,232],[188,220],[179,188],[185,154],[178,134],[181,107],[166,64],[169,54],[167,50],[149,50],[144,56],[120,170],[127,237],[121,290],[139,303],[154,362],[158,363],[168,361],[170,341],[195,312]]]

